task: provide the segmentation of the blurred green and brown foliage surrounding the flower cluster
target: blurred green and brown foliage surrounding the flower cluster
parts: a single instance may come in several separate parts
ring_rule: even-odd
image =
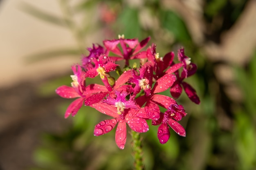
[[[246,2],[247,0],[204,0],[204,20],[209,24],[206,37],[218,41],[221,33],[236,22]],[[142,5],[131,5],[123,0],[87,0],[71,5],[69,0],[60,0],[60,6],[63,18],[45,13],[29,4],[24,4],[22,9],[40,20],[70,29],[77,40],[77,47],[34,54],[29,57],[29,61],[65,54],[80,57],[81,53],[85,53],[86,35],[103,29],[105,38],[124,34],[126,38],[138,37],[141,40],[150,35],[150,42],[157,44],[160,55],[184,46],[186,55],[192,58],[193,63],[197,63],[197,74],[188,78],[187,82],[195,87],[201,104],[195,105],[184,93],[177,100],[188,113],[181,121],[186,128],[187,137],[180,137],[171,131],[169,141],[162,145],[157,139],[157,127],[150,126],[150,131],[142,134],[147,170],[255,169],[256,53],[246,67],[231,65],[237,76],[234,83],[243,94],[243,98],[237,101],[225,92],[225,85],[216,78],[213,70],[218,63],[213,63],[204,56],[200,47],[192,41],[182,18],[174,11],[165,9],[161,1],[148,0]],[[102,11],[105,13],[102,14]],[[147,18],[140,17],[141,11],[147,11],[151,19],[157,19],[153,20],[153,25],[142,24],[148,21]],[[96,21],[92,22],[95,18],[83,20],[80,24],[74,21],[74,16],[78,14],[92,16],[96,13],[100,13]],[[109,14],[110,18],[106,18]],[[221,23],[216,22],[219,18]],[[38,94],[52,96],[56,87],[71,82],[69,79],[69,76],[64,76],[46,82],[38,88]],[[88,81],[92,83],[92,80]],[[68,100],[60,106],[59,113],[62,117],[70,103]],[[115,145],[115,130],[100,137],[93,136],[95,124],[108,117],[90,107],[83,107],[77,116],[68,119],[72,124],[67,124],[65,133],[42,135],[41,146],[34,153],[35,166],[31,170],[132,169],[129,135],[124,150],[119,150]]]

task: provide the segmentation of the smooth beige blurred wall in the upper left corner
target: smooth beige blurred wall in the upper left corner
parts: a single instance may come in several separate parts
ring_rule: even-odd
[[[70,69],[79,57],[49,59],[27,64],[25,57],[55,48],[74,47],[66,28],[49,24],[20,9],[22,2],[62,16],[58,0],[4,0],[0,3],[0,87],[25,80],[38,80]]]

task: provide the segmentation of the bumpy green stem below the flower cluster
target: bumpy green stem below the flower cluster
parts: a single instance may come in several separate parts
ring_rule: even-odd
[[[143,170],[144,165],[142,161],[142,146],[140,133],[132,131],[131,135],[135,170]]]

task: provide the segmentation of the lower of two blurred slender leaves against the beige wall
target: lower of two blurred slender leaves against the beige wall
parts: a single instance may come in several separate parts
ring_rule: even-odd
[[[78,56],[82,52],[78,48],[63,48],[63,49],[56,49],[56,50],[50,50],[47,52],[40,52],[37,54],[32,54],[30,56],[25,57],[26,63],[34,63],[38,61],[42,61],[45,59],[51,59],[55,57],[63,57],[63,55],[74,55]]]

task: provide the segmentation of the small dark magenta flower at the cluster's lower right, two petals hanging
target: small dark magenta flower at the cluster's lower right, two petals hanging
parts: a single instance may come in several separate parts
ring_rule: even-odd
[[[167,111],[161,113],[161,117],[157,121],[152,121],[153,125],[161,124],[158,127],[157,137],[161,144],[165,144],[170,138],[169,126],[180,136],[185,137],[186,131],[185,129],[177,122],[180,121],[186,113],[182,105],[171,105],[168,107]]]

